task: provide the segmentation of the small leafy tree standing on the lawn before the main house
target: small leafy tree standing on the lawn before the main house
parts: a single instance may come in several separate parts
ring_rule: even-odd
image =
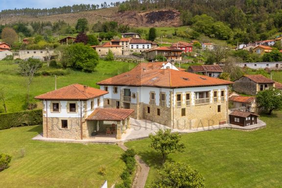
[[[162,155],[162,162],[170,153],[184,152],[185,145],[181,143],[181,136],[179,133],[171,133],[170,129],[158,130],[155,135],[149,134],[151,139],[150,147],[154,148]]]

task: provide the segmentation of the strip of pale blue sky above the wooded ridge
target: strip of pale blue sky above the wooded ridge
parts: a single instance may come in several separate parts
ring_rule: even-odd
[[[0,11],[14,8],[52,8],[73,4],[101,4],[118,0],[0,0]]]

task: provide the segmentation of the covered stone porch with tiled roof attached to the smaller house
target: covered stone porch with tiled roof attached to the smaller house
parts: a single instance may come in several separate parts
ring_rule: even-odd
[[[84,139],[113,138],[120,140],[130,129],[129,116],[132,109],[99,108],[86,119]]]

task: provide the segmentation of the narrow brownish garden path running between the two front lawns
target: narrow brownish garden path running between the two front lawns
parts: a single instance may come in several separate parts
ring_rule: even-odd
[[[118,146],[124,151],[128,149],[125,145],[123,145],[123,142],[118,143]],[[144,188],[150,167],[145,164],[138,155],[135,156],[135,159],[138,163],[138,167],[131,188]]]

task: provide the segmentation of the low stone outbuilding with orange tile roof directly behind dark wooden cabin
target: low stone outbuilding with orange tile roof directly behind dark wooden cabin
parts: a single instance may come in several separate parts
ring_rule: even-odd
[[[229,108],[259,114],[255,96],[230,96]]]

